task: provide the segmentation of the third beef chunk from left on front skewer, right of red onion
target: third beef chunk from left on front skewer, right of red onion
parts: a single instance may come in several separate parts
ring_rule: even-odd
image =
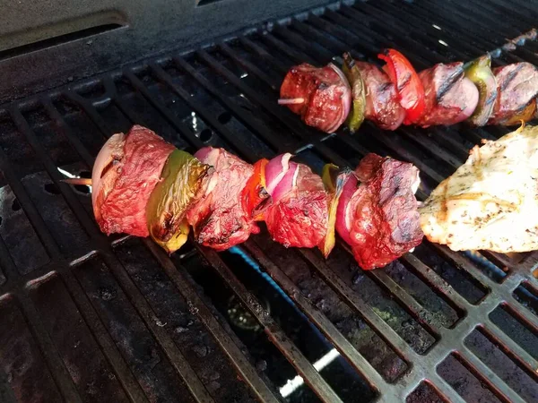
[[[327,232],[328,202],[321,177],[299,164],[297,186],[265,210],[269,234],[286,247],[321,248]]]

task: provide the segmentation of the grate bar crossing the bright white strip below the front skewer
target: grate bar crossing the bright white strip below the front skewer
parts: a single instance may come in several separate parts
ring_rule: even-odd
[[[256,320],[264,326],[265,333],[267,333],[269,339],[281,350],[282,354],[295,367],[299,375],[303,377],[319,399],[326,402],[341,402],[342,400],[331,389],[328,383],[325,382],[316,368],[308,362],[308,359],[302,355],[291,339],[273,321],[271,315],[259,304],[256,297],[243,286],[230,268],[222,262],[221,257],[214,251],[202,249],[198,245],[196,247],[204,253],[204,257],[211,263],[213,269],[219,272],[221,278],[226,281],[228,287],[239,297],[240,301],[247,306],[250,313],[256,317]]]

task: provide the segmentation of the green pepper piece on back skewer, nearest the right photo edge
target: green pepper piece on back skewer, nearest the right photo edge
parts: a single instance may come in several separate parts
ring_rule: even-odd
[[[498,96],[497,80],[495,79],[495,74],[491,72],[490,54],[465,64],[464,70],[465,77],[473,81],[479,92],[476,109],[474,109],[473,115],[467,121],[475,126],[483,126],[488,123]]]

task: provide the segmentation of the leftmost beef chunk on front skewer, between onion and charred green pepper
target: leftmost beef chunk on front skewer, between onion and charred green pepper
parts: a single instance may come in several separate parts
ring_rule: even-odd
[[[174,146],[145,127],[135,125],[126,135],[124,156],[109,169],[119,173],[113,189],[100,205],[98,224],[110,235],[149,236],[146,205],[162,167]]]

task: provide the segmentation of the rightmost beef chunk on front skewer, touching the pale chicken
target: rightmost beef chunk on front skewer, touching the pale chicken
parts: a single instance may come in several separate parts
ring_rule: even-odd
[[[366,270],[383,267],[421,244],[416,191],[419,170],[395,159],[367,155],[357,167],[362,181],[345,206],[349,227],[336,230]]]

